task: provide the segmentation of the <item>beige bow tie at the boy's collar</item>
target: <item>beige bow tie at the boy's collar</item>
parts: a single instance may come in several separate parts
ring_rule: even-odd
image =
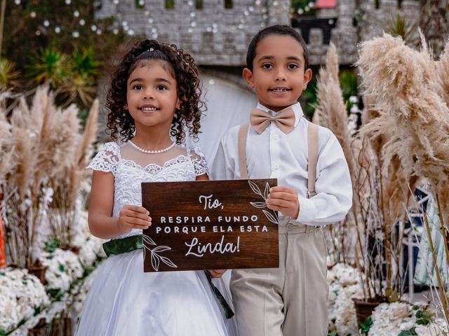
[[[287,109],[283,109],[276,113],[276,116],[272,116],[271,114],[262,111],[261,109],[253,109],[250,113],[250,123],[255,132],[258,134],[264,132],[264,130],[268,127],[269,123],[274,121],[276,126],[279,127],[279,130],[284,132],[285,134],[290,133],[295,126],[295,112],[291,106]]]

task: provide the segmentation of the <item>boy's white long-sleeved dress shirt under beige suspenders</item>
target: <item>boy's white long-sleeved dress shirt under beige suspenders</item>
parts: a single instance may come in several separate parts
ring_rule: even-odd
[[[295,128],[285,134],[270,123],[257,134],[249,127],[246,157],[249,179],[278,179],[278,186],[297,191],[300,214],[295,221],[307,225],[326,225],[341,221],[351,208],[352,186],[342,148],[335,135],[319,127],[319,152],[316,166],[316,193],[307,198],[307,127],[299,103],[294,104]],[[276,112],[257,104],[257,109],[273,116]],[[220,141],[211,175],[216,180],[241,179],[239,169],[239,127],[232,127]],[[281,215],[282,217],[282,215]]]

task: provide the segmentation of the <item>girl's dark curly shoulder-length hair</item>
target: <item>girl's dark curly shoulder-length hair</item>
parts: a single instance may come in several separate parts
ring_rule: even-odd
[[[205,107],[204,102],[200,100],[201,85],[198,68],[194,64],[192,56],[187,52],[177,48],[174,44],[163,44],[156,40],[140,41],[131,48],[121,60],[112,77],[106,99],[106,107],[109,110],[107,127],[112,139],[116,140],[120,137],[122,141],[128,141],[134,136],[134,119],[128,111],[124,110],[126,84],[130,73],[140,64],[140,61],[147,59],[160,59],[168,62],[171,74],[177,83],[177,97],[181,104],[180,109],[177,109],[173,116],[170,135],[175,137],[177,144],[182,144],[186,137],[185,127],[187,127],[189,134],[197,139],[201,114]]]

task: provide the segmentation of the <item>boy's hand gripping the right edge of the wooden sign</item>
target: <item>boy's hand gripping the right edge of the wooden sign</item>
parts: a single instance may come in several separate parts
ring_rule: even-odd
[[[292,188],[273,187],[269,190],[267,200],[268,209],[280,211],[284,216],[297,218],[300,214],[300,202],[297,199],[297,192]]]

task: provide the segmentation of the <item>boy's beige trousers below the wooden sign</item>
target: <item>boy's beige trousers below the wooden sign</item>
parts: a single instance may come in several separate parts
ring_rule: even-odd
[[[326,336],[326,255],[321,229],[281,221],[279,268],[232,271],[239,336]]]

